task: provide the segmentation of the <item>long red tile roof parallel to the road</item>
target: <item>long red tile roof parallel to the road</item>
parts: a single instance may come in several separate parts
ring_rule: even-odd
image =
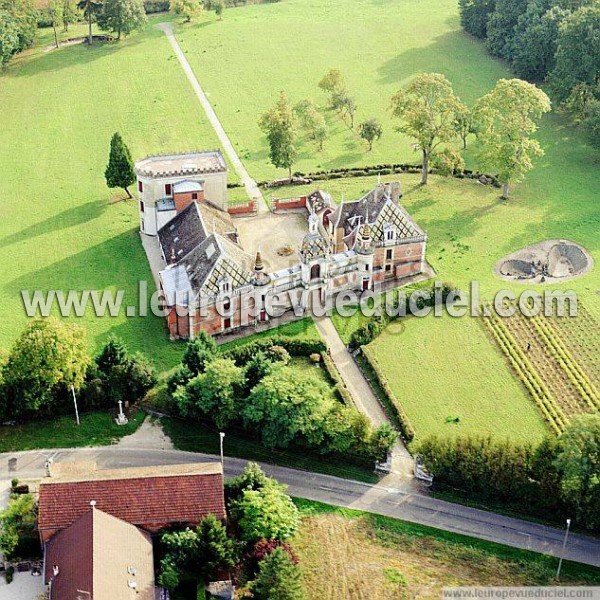
[[[42,480],[38,529],[42,540],[72,525],[94,500],[99,510],[150,532],[171,524],[195,525],[212,513],[225,519],[218,463],[95,471],[89,476]]]

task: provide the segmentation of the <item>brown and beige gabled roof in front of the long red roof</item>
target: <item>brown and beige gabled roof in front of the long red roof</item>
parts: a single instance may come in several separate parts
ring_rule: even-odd
[[[152,539],[98,509],[88,507],[46,544],[45,565],[45,582],[52,579],[50,600],[78,600],[82,591],[90,598],[154,600]]]

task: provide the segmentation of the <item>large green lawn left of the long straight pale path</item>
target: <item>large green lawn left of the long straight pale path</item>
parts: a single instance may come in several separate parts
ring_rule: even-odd
[[[42,30],[39,45],[0,76],[0,246],[7,257],[0,347],[26,323],[22,289],[124,290],[125,304],[137,305],[137,282],[152,280],[137,203],[104,181],[110,137],[121,132],[135,158],[219,145],[154,27],[168,18],[152,18],[143,33],[118,44],[48,53]],[[113,333],[161,369],[180,358],[182,346],[168,341],[163,319],[98,318],[88,310],[80,321],[95,347]]]

